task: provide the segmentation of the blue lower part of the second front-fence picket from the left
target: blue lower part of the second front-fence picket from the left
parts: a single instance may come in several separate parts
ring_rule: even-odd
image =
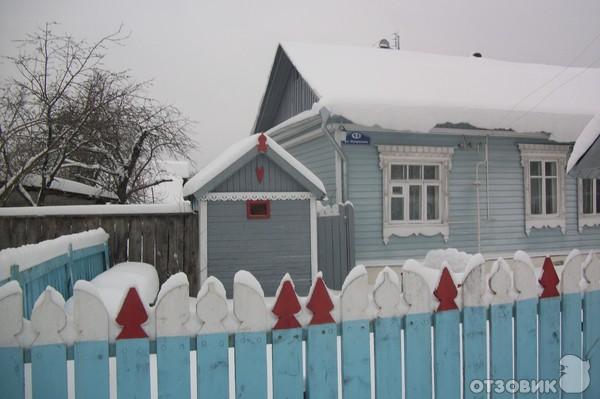
[[[67,347],[61,344],[31,348],[31,393],[33,399],[67,397]]]

